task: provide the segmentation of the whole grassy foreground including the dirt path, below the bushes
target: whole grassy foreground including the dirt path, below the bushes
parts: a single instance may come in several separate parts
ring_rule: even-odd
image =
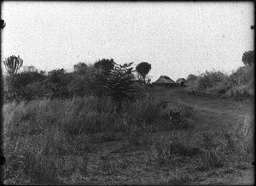
[[[253,183],[252,100],[170,88],[122,110],[93,96],[4,104],[4,183]]]

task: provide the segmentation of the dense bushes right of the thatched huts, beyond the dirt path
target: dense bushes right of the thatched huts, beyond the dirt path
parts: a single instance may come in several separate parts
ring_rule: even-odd
[[[189,76],[189,93],[195,95],[221,96],[244,99],[253,95],[253,68],[240,67],[236,72],[225,75],[220,71],[206,71],[201,76]]]

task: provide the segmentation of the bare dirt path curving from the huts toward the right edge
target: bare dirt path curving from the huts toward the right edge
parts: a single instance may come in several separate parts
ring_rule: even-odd
[[[181,88],[173,88],[157,93],[157,97],[170,100],[171,107],[190,106],[201,124],[227,123],[233,125],[253,110],[252,100],[234,101],[209,99],[189,95]]]

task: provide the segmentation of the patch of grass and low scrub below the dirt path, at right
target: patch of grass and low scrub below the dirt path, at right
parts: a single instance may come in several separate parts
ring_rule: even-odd
[[[182,163],[185,157],[196,161],[196,171],[208,171],[219,167],[243,168],[244,162],[253,161],[254,116],[247,116],[235,126],[222,131],[172,131],[152,147],[155,160],[160,165]],[[196,159],[196,160],[195,160]]]

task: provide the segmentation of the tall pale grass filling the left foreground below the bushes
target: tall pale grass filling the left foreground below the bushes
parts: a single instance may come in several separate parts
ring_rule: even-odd
[[[109,140],[109,135],[113,139],[113,132],[123,132],[123,138],[131,144],[147,143],[145,125],[158,124],[160,117],[155,101],[138,99],[123,104],[122,112],[116,111],[113,100],[94,96],[4,104],[3,151],[8,161],[4,180],[62,183],[86,167],[75,162],[73,170],[63,174],[66,168],[60,168],[63,162],[57,160],[63,156],[79,157],[86,165],[87,153],[94,150],[92,140],[98,137]]]

